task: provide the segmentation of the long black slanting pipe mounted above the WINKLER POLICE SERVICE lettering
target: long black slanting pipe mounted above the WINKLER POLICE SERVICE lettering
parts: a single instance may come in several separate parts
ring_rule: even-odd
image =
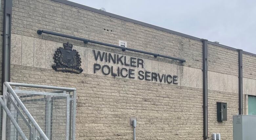
[[[136,49],[131,49],[131,48],[126,48],[126,47],[121,47],[121,46],[117,46],[117,45],[113,45],[113,44],[108,44],[108,43],[103,43],[103,42],[99,42],[99,41],[94,41],[94,40],[89,40],[89,39],[83,39],[83,38],[79,38],[79,37],[74,37],[74,36],[70,36],[70,35],[64,35],[64,34],[60,34],[60,33],[55,33],[55,32],[51,32],[51,31],[45,31],[45,30],[37,30],[37,34],[41,35],[42,33],[45,34],[50,34],[50,35],[54,35],[54,36],[60,36],[60,37],[64,37],[64,38],[70,38],[70,39],[76,39],[76,40],[81,40],[84,41],[84,43],[95,43],[95,44],[99,44],[99,45],[104,45],[104,46],[109,46],[109,47],[114,47],[114,48],[118,48],[121,49],[122,51],[133,51],[133,52],[138,52],[138,53],[142,53],[142,54],[149,54],[149,55],[154,55],[154,57],[164,57],[164,58],[169,58],[169,59],[173,59],[173,60],[178,60],[183,62],[186,62],[186,60],[182,59],[182,58],[176,58],[176,57],[172,57],[172,56],[166,56],[166,55],[162,55],[162,54],[156,54],[156,53],[151,53],[151,52],[145,52],[145,51],[141,51],[141,50],[136,50]]]

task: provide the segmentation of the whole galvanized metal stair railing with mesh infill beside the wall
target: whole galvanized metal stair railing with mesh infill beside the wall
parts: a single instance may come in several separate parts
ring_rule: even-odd
[[[2,140],[75,140],[75,88],[4,82],[0,104]]]

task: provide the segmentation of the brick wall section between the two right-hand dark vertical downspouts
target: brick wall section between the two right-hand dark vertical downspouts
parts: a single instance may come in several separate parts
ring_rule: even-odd
[[[227,103],[227,121],[217,121],[217,102]],[[238,114],[238,52],[208,44],[208,129],[233,139],[233,115]]]

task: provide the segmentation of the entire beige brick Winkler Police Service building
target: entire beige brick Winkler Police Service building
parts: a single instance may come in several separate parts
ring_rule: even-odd
[[[5,3],[1,1],[1,34]],[[208,137],[217,132],[223,140],[233,140],[232,116],[239,114],[239,50],[66,0],[12,0],[9,12],[11,42],[0,47],[3,53],[3,47],[10,49],[10,72],[5,72],[11,82],[76,88],[77,140],[131,140],[131,117],[137,118],[138,140],[203,140],[206,54]],[[127,48],[186,61],[39,35],[37,30],[117,46],[122,40]],[[6,40],[0,39],[1,44]],[[80,74],[52,67],[55,51],[67,42],[80,54]],[[241,52],[243,114],[248,114],[248,96],[256,96],[256,54]],[[217,102],[227,103],[227,121],[217,121]]]

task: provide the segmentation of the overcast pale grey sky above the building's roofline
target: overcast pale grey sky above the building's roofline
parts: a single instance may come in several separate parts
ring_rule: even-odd
[[[256,54],[253,0],[70,0]]]

